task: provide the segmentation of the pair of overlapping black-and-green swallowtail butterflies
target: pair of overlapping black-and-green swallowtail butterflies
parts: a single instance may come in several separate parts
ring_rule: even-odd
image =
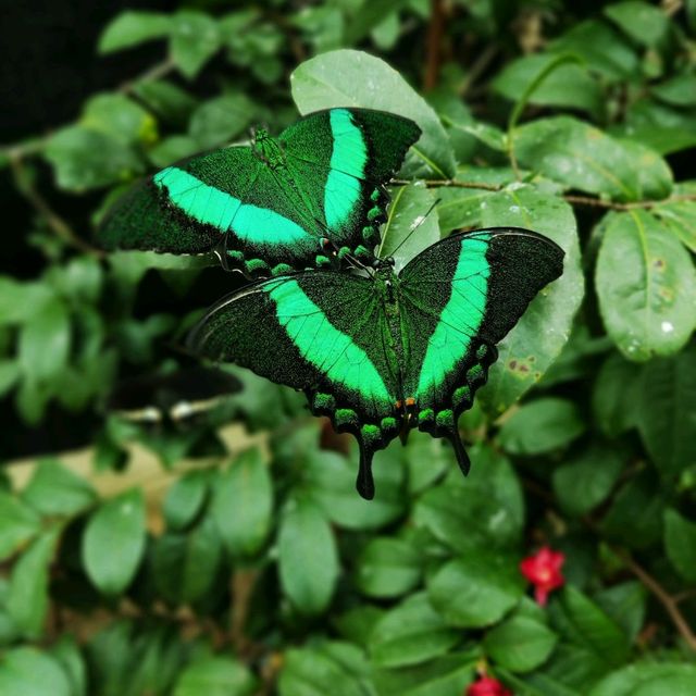
[[[448,438],[469,471],[457,419],[495,345],[562,272],[556,244],[517,228],[451,235],[398,274],[376,259],[384,184],[420,133],[389,113],[316,112],[277,139],[259,130],[251,147],[166,167],[100,233],[108,247],[214,249],[226,268],[268,278],[214,306],[190,345],[303,390],[313,413],[352,433],[364,498],[374,452],[412,427]]]

